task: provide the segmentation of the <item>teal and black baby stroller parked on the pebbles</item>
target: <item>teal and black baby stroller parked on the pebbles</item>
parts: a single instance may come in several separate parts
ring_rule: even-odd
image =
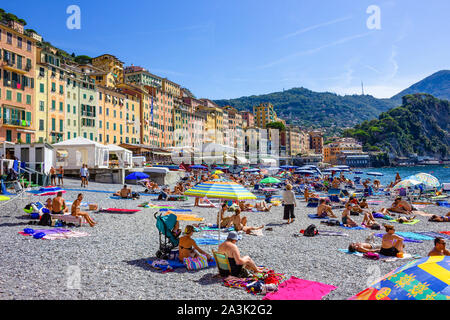
[[[156,219],[156,228],[159,231],[159,250],[156,252],[156,257],[158,259],[168,260],[171,256],[172,250],[178,247],[179,243],[178,237],[172,234],[172,229],[177,223],[177,216],[174,214],[163,216],[162,214],[163,213],[160,212],[156,212],[154,214]]]

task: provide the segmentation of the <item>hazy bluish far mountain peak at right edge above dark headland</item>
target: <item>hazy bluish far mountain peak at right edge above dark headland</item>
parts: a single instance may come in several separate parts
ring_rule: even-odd
[[[393,96],[390,100],[400,105],[402,97],[407,94],[428,93],[436,98],[450,100],[450,70],[441,70],[413,84],[408,89]]]

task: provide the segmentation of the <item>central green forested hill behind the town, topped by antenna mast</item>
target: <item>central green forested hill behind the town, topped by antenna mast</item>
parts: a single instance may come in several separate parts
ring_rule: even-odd
[[[214,102],[219,106],[231,105],[238,110],[250,111],[253,111],[253,106],[270,102],[274,105],[278,117],[287,120],[288,123],[330,130],[353,127],[395,106],[389,99],[376,99],[370,95],[340,96],[305,88]]]

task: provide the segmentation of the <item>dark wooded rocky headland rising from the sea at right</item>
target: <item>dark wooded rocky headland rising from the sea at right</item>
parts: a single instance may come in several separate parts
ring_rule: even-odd
[[[366,151],[447,158],[450,155],[450,101],[429,94],[406,95],[400,107],[345,130],[344,135],[361,141]]]

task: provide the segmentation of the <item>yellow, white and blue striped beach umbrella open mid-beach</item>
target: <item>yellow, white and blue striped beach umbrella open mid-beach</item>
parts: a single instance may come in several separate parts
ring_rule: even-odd
[[[206,181],[187,190],[184,195],[199,198],[224,200],[253,200],[256,196],[240,184],[233,181]]]

